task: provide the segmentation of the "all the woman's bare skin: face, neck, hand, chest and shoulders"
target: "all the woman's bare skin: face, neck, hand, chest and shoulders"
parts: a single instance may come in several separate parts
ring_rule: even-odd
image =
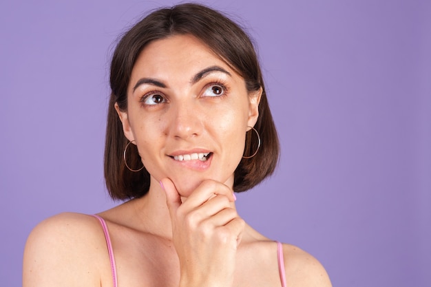
[[[117,108],[151,174],[149,193],[100,213],[119,286],[280,287],[276,244],[235,209],[233,171],[260,91],[189,35],[150,43]],[[174,156],[210,153],[206,161]],[[284,244],[287,286],[330,286],[315,258]],[[89,215],[41,222],[25,246],[23,286],[112,286],[105,237]]]

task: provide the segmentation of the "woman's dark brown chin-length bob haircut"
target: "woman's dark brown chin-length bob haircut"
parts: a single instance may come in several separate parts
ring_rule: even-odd
[[[130,171],[125,166],[123,152],[127,138],[118,118],[115,103],[127,111],[127,87],[132,69],[140,52],[151,42],[173,35],[190,34],[206,43],[210,50],[244,78],[246,89],[256,92],[262,87],[259,117],[255,129],[262,145],[253,158],[242,158],[235,169],[234,191],[246,191],[255,187],[273,173],[279,159],[277,131],[269,110],[260,65],[249,36],[236,23],[218,11],[200,4],[183,3],[172,8],[151,12],[129,31],[123,34],[112,56],[110,85],[112,93],[107,114],[105,141],[105,182],[114,200],[140,198],[148,192],[150,176],[145,167]],[[252,136],[253,134],[253,136]],[[244,156],[257,149],[253,131],[246,133]],[[142,166],[135,145],[129,145],[127,164],[132,169]]]

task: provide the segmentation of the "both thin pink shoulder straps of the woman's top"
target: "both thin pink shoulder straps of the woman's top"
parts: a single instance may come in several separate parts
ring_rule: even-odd
[[[109,262],[111,262],[111,271],[112,271],[112,281],[114,281],[114,287],[118,287],[117,281],[117,270],[115,265],[114,251],[112,249],[111,237],[109,237],[109,231],[107,229],[107,225],[105,220],[98,215],[93,215],[101,222],[103,233],[105,234],[106,245],[109,254]],[[277,261],[278,261],[278,270],[280,273],[280,280],[282,281],[282,287],[286,287],[286,272],[284,269],[284,257],[283,257],[283,245],[281,242],[277,242]]]

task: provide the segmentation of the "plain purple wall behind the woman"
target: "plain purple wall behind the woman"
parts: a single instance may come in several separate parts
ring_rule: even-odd
[[[0,3],[1,286],[21,285],[37,222],[113,206],[112,43],[172,4],[58,2]],[[204,3],[249,27],[282,140],[275,176],[238,196],[240,214],[315,255],[334,286],[431,286],[430,2]]]

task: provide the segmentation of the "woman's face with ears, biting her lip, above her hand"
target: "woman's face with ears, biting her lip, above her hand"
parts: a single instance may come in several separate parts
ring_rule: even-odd
[[[140,53],[119,111],[151,180],[170,178],[187,197],[205,179],[233,186],[260,92],[190,35],[149,43]],[[154,183],[154,182],[153,182]]]

